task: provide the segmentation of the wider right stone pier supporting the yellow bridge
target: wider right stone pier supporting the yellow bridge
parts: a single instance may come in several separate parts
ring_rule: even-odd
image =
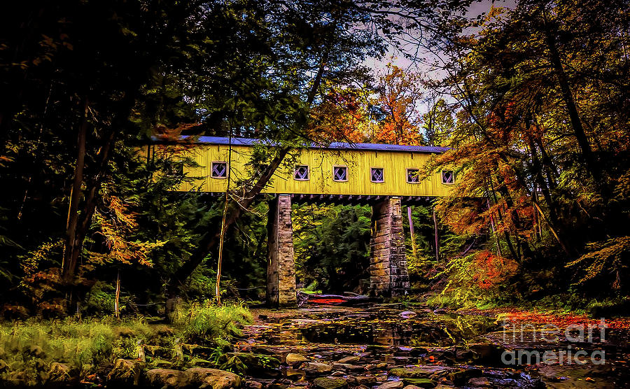
[[[398,197],[372,206],[370,290],[382,297],[409,293],[405,236],[402,233],[402,212]]]

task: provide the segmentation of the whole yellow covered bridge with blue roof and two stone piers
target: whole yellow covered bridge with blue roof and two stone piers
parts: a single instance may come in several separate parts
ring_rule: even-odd
[[[253,175],[250,161],[257,139],[202,136],[190,157],[199,167],[186,168],[200,181],[181,191],[225,192],[228,181]],[[447,195],[452,170],[423,177],[423,165],[445,148],[372,143],[330,143],[299,150],[289,164],[276,170],[263,192],[269,202],[267,302],[296,303],[291,204],[342,202],[372,205],[370,288],[374,295],[405,295],[409,290],[402,204],[425,202]]]

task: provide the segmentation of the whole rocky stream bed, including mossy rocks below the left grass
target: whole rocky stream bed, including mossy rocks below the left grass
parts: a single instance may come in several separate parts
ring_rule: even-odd
[[[630,388],[624,326],[594,327],[580,339],[575,323],[543,337],[549,324],[540,320],[512,323],[484,311],[397,304],[252,313],[255,322],[228,353],[141,344],[138,358],[118,359],[87,376],[53,362],[37,382],[54,388]],[[23,351],[29,358],[44,358],[31,348]],[[535,360],[545,352],[555,359]],[[512,364],[510,355],[520,363]],[[24,372],[2,362],[0,355],[0,387],[27,382]]]

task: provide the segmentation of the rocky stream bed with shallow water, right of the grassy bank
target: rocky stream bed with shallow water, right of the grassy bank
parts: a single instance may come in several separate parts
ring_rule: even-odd
[[[496,316],[442,309],[375,305],[253,313],[255,323],[237,349],[272,356],[279,366],[249,369],[247,388],[630,388],[627,336],[610,329],[605,341],[595,328],[584,341],[572,341],[575,328],[569,339],[547,333],[546,341],[542,324],[519,324],[514,331],[508,323],[504,332]],[[560,358],[530,365],[525,357],[523,364],[505,365],[519,351]],[[569,365],[560,351],[584,351],[577,360],[584,365],[573,357]]]

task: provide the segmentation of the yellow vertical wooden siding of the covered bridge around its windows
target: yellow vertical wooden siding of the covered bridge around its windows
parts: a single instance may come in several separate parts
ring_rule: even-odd
[[[231,185],[239,179],[251,176],[249,160],[251,148],[232,146]],[[188,176],[200,177],[200,181],[183,184],[179,190],[200,190],[202,192],[225,192],[228,180],[211,178],[211,162],[228,162],[227,145],[202,145],[192,151],[191,156],[200,164],[198,168],[186,168]],[[268,193],[325,194],[325,195],[393,195],[393,196],[444,196],[451,185],[442,184],[441,172],[421,181],[407,183],[407,168],[422,169],[430,157],[429,153],[407,153],[400,151],[304,149],[297,156],[296,164],[309,166],[310,179],[297,181],[291,167],[281,167],[276,171],[272,182],[265,188]],[[348,168],[348,181],[332,180],[333,166]],[[372,167],[384,170],[384,183],[372,183]]]

